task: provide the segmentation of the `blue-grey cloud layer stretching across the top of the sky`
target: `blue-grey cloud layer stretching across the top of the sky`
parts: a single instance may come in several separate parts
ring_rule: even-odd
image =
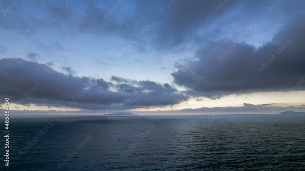
[[[11,1],[0,2],[2,6],[9,5]],[[172,48],[180,43],[184,36],[198,36],[200,30],[210,30],[209,34],[200,35],[199,38],[218,38],[219,33],[224,33],[224,25],[246,24],[248,21],[257,21],[260,18],[278,20],[279,16],[291,17],[302,10],[304,3],[301,1],[283,1],[272,12],[267,6],[271,1],[242,1],[242,0],[213,0],[213,1],[178,1],[168,7],[170,0],[156,1],[123,1],[107,19],[108,13],[116,0],[101,1],[74,1],[68,6],[65,1],[27,1],[33,8],[41,9],[39,15],[36,11],[28,11],[25,3],[20,2],[7,17],[0,18],[0,28],[16,30],[22,33],[32,33],[43,24],[45,19],[52,22],[52,27],[64,34],[76,32],[90,32],[101,35],[116,35],[127,40],[134,38],[135,33],[141,31],[145,23],[151,22],[153,33],[145,35],[150,44],[156,48]],[[209,22],[205,16],[215,10],[221,3],[224,7],[215,14]],[[298,7],[295,6],[297,3]],[[81,6],[81,8],[80,8]],[[132,6],[132,8],[131,8]],[[293,9],[293,10],[292,10]],[[232,12],[234,11],[234,12]],[[292,12],[293,11],[293,12]],[[27,15],[22,15],[27,12]],[[240,22],[240,23],[236,23]],[[212,29],[210,28],[212,27]],[[167,45],[167,46],[165,46]],[[140,46],[140,45],[137,45]],[[139,47],[138,51],[146,47]]]

